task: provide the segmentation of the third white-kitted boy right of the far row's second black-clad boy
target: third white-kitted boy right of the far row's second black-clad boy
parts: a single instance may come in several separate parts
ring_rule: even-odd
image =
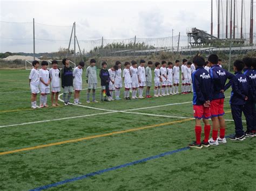
[[[132,88],[132,79],[130,71],[130,63],[124,63],[123,79],[124,79],[124,99],[131,100],[130,98],[130,89]]]

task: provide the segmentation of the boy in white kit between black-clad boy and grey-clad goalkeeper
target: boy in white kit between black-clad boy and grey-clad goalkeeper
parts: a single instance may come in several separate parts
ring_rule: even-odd
[[[80,91],[82,90],[82,74],[84,68],[84,61],[80,61],[79,65],[73,70],[73,78],[74,78],[74,103],[75,104],[82,104],[79,102]]]

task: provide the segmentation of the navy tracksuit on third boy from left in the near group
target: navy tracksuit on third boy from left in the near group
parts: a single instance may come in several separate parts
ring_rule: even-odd
[[[232,91],[231,91],[231,112],[232,117],[235,123],[235,135],[237,137],[241,137],[244,135],[244,130],[242,130],[242,112],[246,117],[246,121],[252,121],[252,118],[248,114],[248,110],[245,108],[245,97],[248,96],[249,84],[247,77],[242,74],[241,72],[235,72],[235,81],[232,84]]]

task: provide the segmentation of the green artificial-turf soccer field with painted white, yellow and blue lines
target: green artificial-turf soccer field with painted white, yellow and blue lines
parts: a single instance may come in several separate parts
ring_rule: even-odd
[[[192,94],[87,104],[83,90],[80,106],[31,109],[29,73],[0,70],[1,190],[256,189],[256,138],[187,147]]]

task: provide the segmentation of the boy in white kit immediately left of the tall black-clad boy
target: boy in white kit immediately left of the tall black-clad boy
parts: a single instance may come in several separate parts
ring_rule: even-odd
[[[50,69],[50,79],[51,79],[51,104],[53,107],[59,106],[58,96],[60,92],[60,69],[58,68],[58,62],[52,60],[52,68]],[[54,103],[55,95],[55,103]]]

